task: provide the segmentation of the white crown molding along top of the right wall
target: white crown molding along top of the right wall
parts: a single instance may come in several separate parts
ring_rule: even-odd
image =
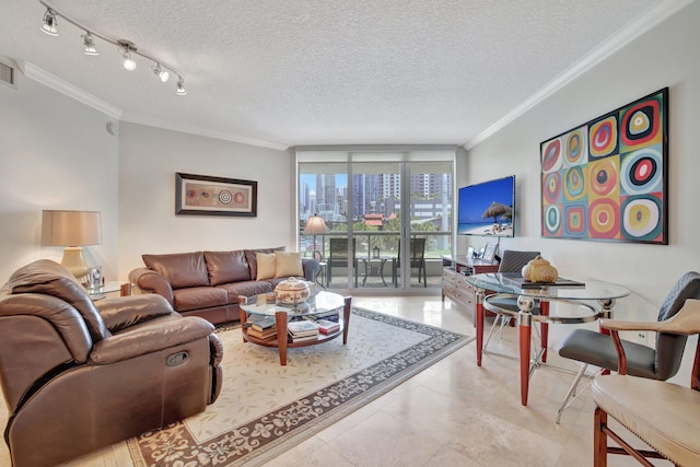
[[[622,47],[627,46],[642,34],[663,23],[666,19],[677,13],[679,10],[686,8],[693,1],[695,0],[660,1],[658,4],[656,4],[654,8],[638,17],[634,22],[621,30],[618,34],[610,37],[610,39],[602,44],[594,51],[573,63],[561,74],[550,81],[549,84],[539,90],[537,93],[533,94],[525,102],[506,114],[503,118],[469,140],[464,144],[464,148],[466,150],[470,150],[491,136],[495,135],[499,130],[501,130],[501,128],[505,127],[508,124],[515,120],[521,115],[525,114],[527,110],[535,107],[537,104],[541,103],[547,97],[551,96],[553,93],[564,87],[567,84],[571,83],[573,80],[581,77],[583,73],[591,70],[596,65],[600,63],[603,60],[610,57],[612,54],[620,50]]]

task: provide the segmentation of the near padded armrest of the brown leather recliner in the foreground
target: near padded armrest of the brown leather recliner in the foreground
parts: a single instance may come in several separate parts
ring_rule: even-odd
[[[93,347],[90,360],[98,365],[116,363],[206,338],[213,330],[211,323],[196,316],[166,323],[158,320],[101,340]]]

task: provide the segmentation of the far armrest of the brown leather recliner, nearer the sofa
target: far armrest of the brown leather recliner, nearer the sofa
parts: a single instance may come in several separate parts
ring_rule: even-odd
[[[95,306],[110,332],[173,313],[167,300],[152,293],[101,300]]]

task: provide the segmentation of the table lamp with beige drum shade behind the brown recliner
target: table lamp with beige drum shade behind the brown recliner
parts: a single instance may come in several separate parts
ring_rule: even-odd
[[[42,245],[65,246],[61,265],[80,282],[88,276],[82,247],[101,243],[100,211],[42,212]]]

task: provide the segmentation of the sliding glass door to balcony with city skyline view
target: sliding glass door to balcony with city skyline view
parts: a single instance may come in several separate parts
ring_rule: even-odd
[[[300,248],[331,289],[440,287],[454,148],[296,149]],[[322,234],[307,227],[323,218]]]

